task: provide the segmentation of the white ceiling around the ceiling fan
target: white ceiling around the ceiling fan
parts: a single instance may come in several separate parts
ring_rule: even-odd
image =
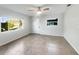
[[[48,14],[48,13],[63,13],[65,12],[66,8],[67,8],[67,4],[3,4],[0,5],[4,8],[8,8],[10,10],[25,14],[25,15],[29,15],[29,16],[34,16],[35,12],[33,11],[27,11],[30,10],[32,8],[37,8],[37,7],[48,7],[49,11],[44,13],[44,14]]]

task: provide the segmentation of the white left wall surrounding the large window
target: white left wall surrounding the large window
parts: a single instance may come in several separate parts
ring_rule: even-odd
[[[22,36],[25,36],[31,32],[31,23],[29,16],[25,16],[12,10],[0,7],[0,17],[1,16],[15,16],[21,18],[23,20],[23,28],[9,32],[0,32],[0,46]]]

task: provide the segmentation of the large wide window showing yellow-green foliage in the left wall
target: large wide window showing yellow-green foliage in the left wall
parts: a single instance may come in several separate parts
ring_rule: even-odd
[[[0,17],[1,32],[18,29],[22,26],[20,18]]]

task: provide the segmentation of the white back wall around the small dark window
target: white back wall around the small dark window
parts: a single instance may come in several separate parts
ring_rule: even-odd
[[[47,20],[58,18],[57,26],[47,26]],[[35,16],[33,18],[33,33],[62,36],[63,35],[63,13],[53,14],[49,13],[47,15]]]

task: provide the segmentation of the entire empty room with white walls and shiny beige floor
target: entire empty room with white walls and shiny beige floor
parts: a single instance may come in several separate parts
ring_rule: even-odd
[[[78,4],[0,4],[0,55],[78,55]]]

